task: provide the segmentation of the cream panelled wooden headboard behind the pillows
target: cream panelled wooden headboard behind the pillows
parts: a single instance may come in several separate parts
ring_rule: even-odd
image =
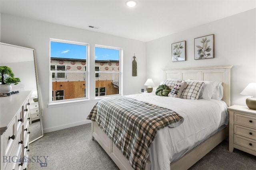
[[[164,68],[164,80],[177,78],[180,80],[212,80],[222,82],[223,101],[230,106],[230,69],[232,65],[201,66],[187,68]]]

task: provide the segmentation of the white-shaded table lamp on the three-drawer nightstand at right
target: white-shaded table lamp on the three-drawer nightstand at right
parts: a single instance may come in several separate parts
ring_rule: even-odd
[[[252,96],[246,99],[246,105],[249,107],[249,109],[256,110],[256,83],[249,83],[240,94]]]

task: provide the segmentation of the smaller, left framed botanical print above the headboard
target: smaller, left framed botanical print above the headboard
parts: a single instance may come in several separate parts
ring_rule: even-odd
[[[172,44],[172,62],[186,61],[186,41]]]

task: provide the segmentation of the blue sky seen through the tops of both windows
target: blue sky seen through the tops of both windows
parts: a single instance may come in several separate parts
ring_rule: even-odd
[[[51,57],[86,59],[86,46],[51,41]],[[119,50],[95,47],[95,60],[119,60]]]

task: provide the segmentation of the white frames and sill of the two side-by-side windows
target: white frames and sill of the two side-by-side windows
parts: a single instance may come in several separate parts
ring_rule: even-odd
[[[77,42],[77,41],[68,41],[68,40],[62,40],[62,39],[53,39],[50,38],[50,41],[60,42],[60,43],[74,43],[78,45],[86,45],[86,71],[85,72],[85,80],[86,88],[85,88],[85,98],[74,98],[74,99],[66,99],[66,100],[55,100],[52,101],[52,74],[49,73],[49,79],[50,79],[50,90],[49,90],[49,104],[48,107],[61,107],[61,106],[68,106],[73,104],[84,104],[84,103],[94,103],[100,98],[104,97],[110,97],[110,96],[117,96],[117,95],[123,95],[123,48],[121,47],[111,47],[111,46],[105,46],[105,45],[90,45],[89,43],[84,42]],[[50,46],[50,45],[49,45]],[[110,48],[110,49],[118,49],[119,50],[119,72],[112,72],[112,73],[118,73],[119,74],[119,88],[118,94],[114,95],[107,95],[107,96],[98,96],[95,97],[95,81],[96,81],[96,72],[95,72],[95,47],[102,47],[102,48]],[[50,55],[49,55],[50,56]],[[49,57],[49,60],[51,57]],[[50,62],[50,61],[49,61]],[[50,64],[51,65],[51,64]],[[50,67],[50,66],[49,66]],[[50,68],[49,68],[50,70]],[[56,72],[62,72],[62,71],[56,71]],[[100,77],[100,72],[99,77]],[[103,71],[104,72],[104,71]],[[111,72],[107,72],[111,73]]]

